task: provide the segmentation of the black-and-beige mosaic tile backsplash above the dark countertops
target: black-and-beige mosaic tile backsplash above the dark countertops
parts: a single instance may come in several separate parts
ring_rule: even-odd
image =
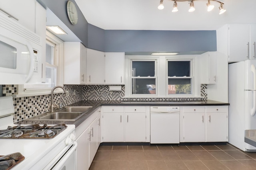
[[[201,84],[201,96],[203,98],[122,98],[124,97],[124,85],[121,91],[109,91],[108,85],[64,85],[69,95],[54,94],[54,104],[62,103],[63,106],[79,102],[81,100],[121,100],[121,101],[206,101],[207,84]],[[18,85],[3,85],[2,96],[17,94]],[[14,122],[27,119],[32,115],[39,115],[50,111],[49,95],[28,96],[14,98]]]

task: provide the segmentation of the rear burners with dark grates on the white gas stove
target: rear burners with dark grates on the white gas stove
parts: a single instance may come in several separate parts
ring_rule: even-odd
[[[48,126],[8,126],[7,129],[0,130],[0,139],[52,139],[66,129],[65,124]]]

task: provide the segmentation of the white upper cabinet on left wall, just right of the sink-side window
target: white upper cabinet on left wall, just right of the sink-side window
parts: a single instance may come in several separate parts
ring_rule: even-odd
[[[86,84],[86,47],[80,42],[64,42],[64,84]]]

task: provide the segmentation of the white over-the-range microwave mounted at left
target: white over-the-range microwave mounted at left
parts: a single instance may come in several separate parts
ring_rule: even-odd
[[[0,84],[42,82],[40,36],[0,13]]]

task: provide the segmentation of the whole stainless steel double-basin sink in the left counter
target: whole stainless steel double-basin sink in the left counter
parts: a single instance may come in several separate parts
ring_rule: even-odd
[[[64,109],[52,112],[43,113],[26,120],[38,120],[38,121],[75,121],[82,115],[86,114],[92,106],[72,106],[64,107]]]

